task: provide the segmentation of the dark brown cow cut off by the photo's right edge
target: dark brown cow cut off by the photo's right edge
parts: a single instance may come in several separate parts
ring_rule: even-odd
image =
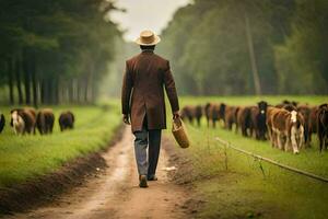
[[[317,135],[320,145],[320,152],[328,147],[328,104],[321,104],[317,113]]]

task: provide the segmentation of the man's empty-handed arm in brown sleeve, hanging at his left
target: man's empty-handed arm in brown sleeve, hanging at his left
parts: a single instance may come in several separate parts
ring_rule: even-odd
[[[130,114],[130,96],[132,91],[132,77],[128,68],[128,62],[126,64],[126,72],[122,80],[121,87],[121,113],[124,114],[124,122],[129,124]]]

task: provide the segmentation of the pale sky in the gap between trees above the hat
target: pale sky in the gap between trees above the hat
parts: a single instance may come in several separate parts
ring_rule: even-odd
[[[126,41],[134,41],[143,30],[161,34],[174,12],[189,2],[190,0],[117,0],[116,5],[127,11],[112,12],[110,19],[126,31]]]

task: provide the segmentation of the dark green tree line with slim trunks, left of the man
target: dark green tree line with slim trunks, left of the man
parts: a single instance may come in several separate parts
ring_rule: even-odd
[[[106,0],[1,0],[0,92],[10,104],[93,103],[121,35],[112,10]]]

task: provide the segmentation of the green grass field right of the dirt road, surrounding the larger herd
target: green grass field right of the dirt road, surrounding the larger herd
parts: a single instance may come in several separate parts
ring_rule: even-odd
[[[251,105],[259,100],[276,104],[296,100],[316,105],[327,96],[265,96],[265,97],[185,97],[181,105],[224,102],[231,105]],[[231,149],[224,149],[214,137],[302,170],[328,177],[328,151],[314,147],[298,155],[271,148],[268,141],[256,141],[223,128],[201,128],[187,124],[191,147],[185,153],[191,160],[192,185],[206,203],[200,218],[327,218],[328,184],[259,162]],[[316,137],[314,138],[316,140]],[[227,166],[226,166],[227,164]]]

